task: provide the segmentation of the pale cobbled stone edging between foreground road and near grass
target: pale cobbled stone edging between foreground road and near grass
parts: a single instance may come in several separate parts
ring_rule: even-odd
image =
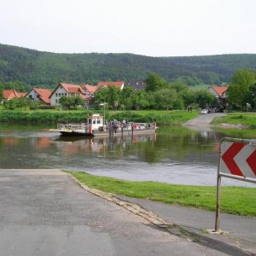
[[[67,173],[67,172],[66,172]],[[101,190],[98,189],[90,189],[88,186],[84,185],[84,183],[81,183],[76,177],[73,177],[70,173],[67,173],[69,177],[72,177],[73,180],[79,184],[79,186],[90,192],[93,195],[99,196],[102,199],[105,199],[107,201],[111,201],[114,204],[118,205],[119,207],[123,207],[126,210],[148,220],[151,224],[154,224],[160,228],[172,228],[176,226],[175,224],[172,224],[170,222],[166,222],[163,218],[160,218],[155,214],[154,212],[150,212],[145,210],[143,207],[138,206],[137,204],[128,202],[128,201],[122,201],[118,198],[116,198],[113,194],[102,192]]]

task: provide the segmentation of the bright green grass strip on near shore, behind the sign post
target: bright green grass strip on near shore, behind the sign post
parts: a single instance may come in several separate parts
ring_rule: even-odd
[[[84,172],[69,173],[88,187],[108,193],[215,211],[215,187],[131,182],[93,176]],[[221,211],[242,216],[256,216],[255,193],[256,188],[223,187]]]

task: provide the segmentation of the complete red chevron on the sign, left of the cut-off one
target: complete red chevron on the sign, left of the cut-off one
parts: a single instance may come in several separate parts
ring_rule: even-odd
[[[224,163],[230,170],[230,173],[233,175],[243,176],[241,170],[236,165],[236,161],[234,160],[234,157],[236,154],[238,154],[243,148],[245,144],[243,143],[233,143],[230,148],[222,155],[222,159],[224,160]]]

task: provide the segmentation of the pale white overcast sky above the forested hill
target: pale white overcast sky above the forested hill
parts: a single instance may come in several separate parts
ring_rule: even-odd
[[[0,44],[55,53],[256,53],[256,0],[0,3]]]

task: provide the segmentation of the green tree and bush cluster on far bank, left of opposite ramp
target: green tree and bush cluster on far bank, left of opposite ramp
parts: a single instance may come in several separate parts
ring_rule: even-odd
[[[92,108],[108,109],[184,109],[215,108],[218,102],[207,89],[191,90],[181,81],[169,83],[156,73],[150,73],[145,80],[145,90],[125,87],[119,90],[114,86],[101,88],[94,96]]]

